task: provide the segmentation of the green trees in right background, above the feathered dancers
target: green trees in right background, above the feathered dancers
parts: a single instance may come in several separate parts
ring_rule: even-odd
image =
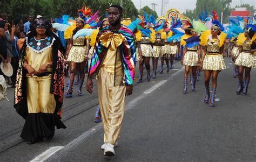
[[[187,10],[184,15],[193,19],[198,18],[201,12],[205,12],[205,10],[210,13],[212,10],[217,11],[219,21],[221,17],[221,12],[223,12],[223,23],[228,22],[228,16],[230,16],[230,3],[232,0],[197,0],[196,9],[194,10]]]

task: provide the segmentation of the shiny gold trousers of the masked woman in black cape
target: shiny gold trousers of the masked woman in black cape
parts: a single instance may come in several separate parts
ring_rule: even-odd
[[[26,78],[26,96],[29,113],[53,114],[56,108],[54,95],[50,93],[51,75]]]

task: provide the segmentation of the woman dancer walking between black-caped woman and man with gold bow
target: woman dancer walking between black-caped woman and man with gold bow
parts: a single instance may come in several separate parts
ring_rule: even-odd
[[[66,61],[69,62],[70,75],[69,75],[69,86],[68,90],[64,94],[64,97],[70,98],[73,96],[73,83],[75,80],[76,73],[79,73],[79,83],[77,88],[77,96],[82,96],[82,86],[85,78],[85,65],[88,60],[90,42],[84,36],[79,36],[73,39],[75,34],[83,29],[85,26],[85,20],[83,18],[77,18],[76,28],[73,30],[73,35],[68,39],[68,46],[66,48]]]

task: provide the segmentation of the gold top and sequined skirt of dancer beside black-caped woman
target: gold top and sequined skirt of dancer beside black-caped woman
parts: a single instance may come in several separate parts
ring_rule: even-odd
[[[69,57],[66,61],[70,62],[84,62],[84,55],[86,52],[85,37],[78,37],[73,39],[73,45],[69,52]]]

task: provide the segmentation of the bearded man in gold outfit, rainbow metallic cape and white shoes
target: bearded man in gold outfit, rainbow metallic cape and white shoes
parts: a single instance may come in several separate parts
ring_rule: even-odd
[[[93,93],[92,79],[98,79],[98,96],[105,156],[114,156],[125,110],[125,96],[132,94],[136,64],[136,41],[130,29],[121,24],[123,9],[111,5],[110,26],[99,31],[92,56],[86,89]]]

